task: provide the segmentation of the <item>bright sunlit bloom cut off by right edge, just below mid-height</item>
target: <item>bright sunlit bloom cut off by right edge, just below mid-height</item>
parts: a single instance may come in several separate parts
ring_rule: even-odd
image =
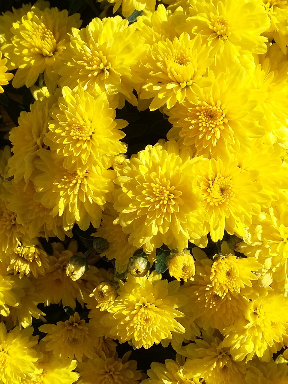
[[[247,228],[244,242],[238,243],[236,250],[247,257],[256,257],[262,263],[264,272],[271,276],[271,287],[288,292],[288,199],[287,194],[280,195],[270,208],[253,217],[252,225]]]

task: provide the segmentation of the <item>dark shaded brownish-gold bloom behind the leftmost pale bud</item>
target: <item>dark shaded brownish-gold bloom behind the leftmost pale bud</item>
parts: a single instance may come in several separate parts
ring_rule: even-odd
[[[88,296],[89,293],[85,286],[86,280],[94,280],[94,273],[98,270],[94,266],[89,266],[86,272],[77,281],[73,281],[66,275],[66,265],[73,255],[82,256],[81,252],[77,252],[77,242],[71,240],[68,249],[65,250],[61,243],[52,243],[54,252],[53,256],[48,256],[50,268],[46,271],[45,276],[38,276],[33,279],[36,290],[40,293],[42,301],[45,305],[58,304],[62,301],[62,305],[68,305],[75,308],[76,298],[83,304],[83,295]],[[51,286],[55,289],[51,290]]]

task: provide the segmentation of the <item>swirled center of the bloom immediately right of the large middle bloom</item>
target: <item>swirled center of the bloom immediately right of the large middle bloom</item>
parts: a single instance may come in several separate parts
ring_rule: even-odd
[[[230,178],[222,177],[221,174],[218,173],[214,180],[209,180],[209,188],[207,188],[209,196],[207,200],[211,205],[219,205],[229,201],[230,197],[235,196],[232,186]]]

